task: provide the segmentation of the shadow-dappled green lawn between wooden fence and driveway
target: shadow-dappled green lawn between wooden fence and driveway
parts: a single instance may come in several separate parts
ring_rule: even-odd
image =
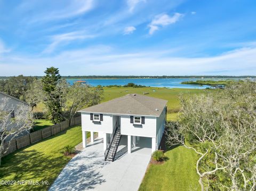
[[[90,132],[87,137],[90,136]],[[34,180],[53,183],[71,159],[61,152],[63,146],[76,146],[82,142],[81,126],[46,138],[39,143],[22,148],[2,159],[0,180]],[[46,185],[1,185],[1,190],[47,190]]]

